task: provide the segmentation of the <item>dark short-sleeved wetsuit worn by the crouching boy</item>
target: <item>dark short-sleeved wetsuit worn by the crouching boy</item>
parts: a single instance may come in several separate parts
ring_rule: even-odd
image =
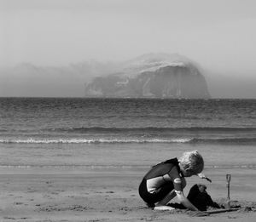
[[[177,158],[160,162],[143,177],[139,194],[149,207],[154,207],[171,191],[183,191],[182,178]]]

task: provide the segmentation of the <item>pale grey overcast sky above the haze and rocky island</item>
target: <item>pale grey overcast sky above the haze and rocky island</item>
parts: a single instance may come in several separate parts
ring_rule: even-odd
[[[0,65],[183,54],[256,73],[255,0],[0,0]]]

